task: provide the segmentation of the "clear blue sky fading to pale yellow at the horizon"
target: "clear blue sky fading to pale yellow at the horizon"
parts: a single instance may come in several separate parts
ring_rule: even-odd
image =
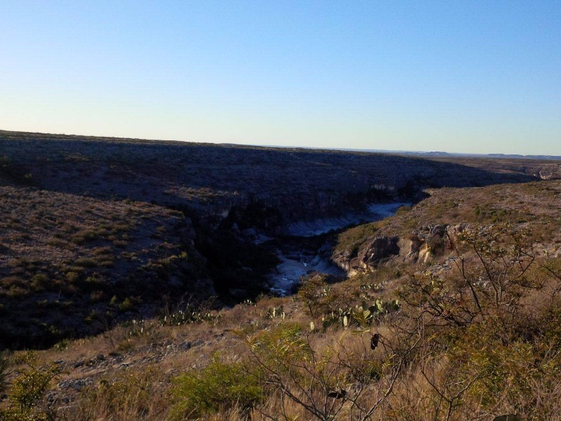
[[[0,0],[0,128],[561,155],[561,1]]]

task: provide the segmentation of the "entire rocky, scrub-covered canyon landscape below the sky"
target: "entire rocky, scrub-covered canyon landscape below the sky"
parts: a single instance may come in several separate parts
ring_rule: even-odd
[[[0,419],[557,419],[560,174],[0,132]]]

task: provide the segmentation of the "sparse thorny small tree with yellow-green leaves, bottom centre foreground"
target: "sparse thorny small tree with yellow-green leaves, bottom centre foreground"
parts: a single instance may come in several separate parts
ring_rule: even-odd
[[[417,345],[388,347],[373,359],[370,342],[362,338],[367,332],[346,331],[334,345],[317,351],[313,349],[316,334],[306,333],[295,323],[283,323],[256,335],[238,335],[250,351],[247,372],[258,373],[269,392],[278,395],[285,419],[289,419],[286,408],[290,401],[327,421],[342,415],[370,419],[391,394]]]

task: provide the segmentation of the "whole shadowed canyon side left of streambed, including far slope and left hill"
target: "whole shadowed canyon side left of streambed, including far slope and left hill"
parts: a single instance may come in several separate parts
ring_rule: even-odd
[[[544,174],[558,163],[0,131],[0,346],[89,335],[194,291],[233,305],[278,262],[259,235]]]

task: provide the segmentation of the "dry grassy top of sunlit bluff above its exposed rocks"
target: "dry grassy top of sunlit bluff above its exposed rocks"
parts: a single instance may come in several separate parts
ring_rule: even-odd
[[[365,256],[365,250],[377,237],[400,237],[405,241],[426,239],[419,232],[428,232],[435,225],[496,225],[510,223],[532,234],[536,250],[540,253],[557,253],[561,246],[561,182],[532,182],[518,185],[495,185],[463,189],[429,189],[427,199],[412,208],[399,210],[396,215],[379,222],[359,225],[348,229],[337,238],[333,259],[343,267],[356,267],[357,256]],[[436,239],[445,250],[428,253],[419,258],[419,264],[443,264],[452,250],[446,239]],[[427,243],[428,244],[428,243]],[[448,249],[446,249],[448,248]],[[397,258],[388,256],[391,262],[381,268],[399,270],[404,260],[407,266],[414,258],[406,259],[400,250]],[[354,259],[354,261],[353,261]],[[367,266],[378,262],[364,262]],[[382,269],[384,270],[384,269]],[[379,273],[381,271],[378,271]]]

